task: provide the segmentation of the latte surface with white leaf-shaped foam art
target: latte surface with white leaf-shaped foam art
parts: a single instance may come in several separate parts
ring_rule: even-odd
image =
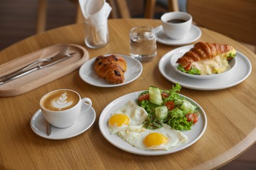
[[[52,111],[67,110],[79,102],[79,95],[68,90],[49,93],[41,100],[43,108]]]

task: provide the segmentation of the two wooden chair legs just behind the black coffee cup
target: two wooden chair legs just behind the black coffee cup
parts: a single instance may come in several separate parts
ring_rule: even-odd
[[[146,0],[145,18],[154,18],[156,0]],[[169,11],[179,11],[178,0],[168,0]]]

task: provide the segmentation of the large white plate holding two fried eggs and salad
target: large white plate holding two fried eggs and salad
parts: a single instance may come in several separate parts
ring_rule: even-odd
[[[108,119],[110,118],[110,114],[112,114],[114,110],[119,109],[119,107],[125,105],[128,101],[130,100],[136,101],[141,92],[133,92],[127,95],[123,95],[115,99],[114,101],[112,101],[110,104],[108,104],[105,107],[104,110],[102,110],[100,114],[100,118],[98,120],[98,126],[100,127],[100,131],[102,135],[106,138],[108,142],[110,142],[117,148],[120,148],[121,150],[125,150],[126,152],[139,154],[139,155],[156,156],[156,155],[171,154],[171,153],[183,150],[184,148],[187,148],[188,146],[191,146],[192,144],[196,143],[196,141],[198,141],[198,139],[202,137],[207,126],[206,114],[203,111],[202,107],[198,105],[198,103],[196,103],[195,101],[193,101],[188,97],[186,97],[186,100],[190,101],[193,105],[198,107],[198,111],[200,112],[200,117],[198,122],[194,124],[194,126],[192,126],[192,129],[190,131],[182,131],[182,133],[184,133],[184,135],[188,137],[187,143],[181,144],[180,146],[177,146],[176,148],[172,148],[171,150],[142,150],[140,148],[136,148],[135,146],[132,146],[131,144],[123,141],[117,134],[110,134],[110,132],[108,131]],[[184,95],[181,95],[181,96],[185,97]]]

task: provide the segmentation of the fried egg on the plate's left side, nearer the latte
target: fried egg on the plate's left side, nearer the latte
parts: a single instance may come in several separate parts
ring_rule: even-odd
[[[114,111],[108,120],[111,134],[124,131],[129,126],[140,126],[148,117],[148,113],[139,107],[135,101],[128,101],[126,105]]]

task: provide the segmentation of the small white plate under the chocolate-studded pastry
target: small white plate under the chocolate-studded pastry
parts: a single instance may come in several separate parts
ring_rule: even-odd
[[[108,55],[110,54],[104,56]],[[140,61],[126,55],[116,55],[121,56],[127,62],[127,70],[125,71],[125,81],[123,83],[110,84],[106,82],[104,78],[100,78],[98,75],[96,75],[94,69],[95,58],[90,59],[81,66],[81,68],[79,69],[79,76],[88,84],[104,88],[123,86],[125,84],[128,84],[129,82],[133,82],[134,80],[136,80],[142,73],[142,64],[140,63]]]

